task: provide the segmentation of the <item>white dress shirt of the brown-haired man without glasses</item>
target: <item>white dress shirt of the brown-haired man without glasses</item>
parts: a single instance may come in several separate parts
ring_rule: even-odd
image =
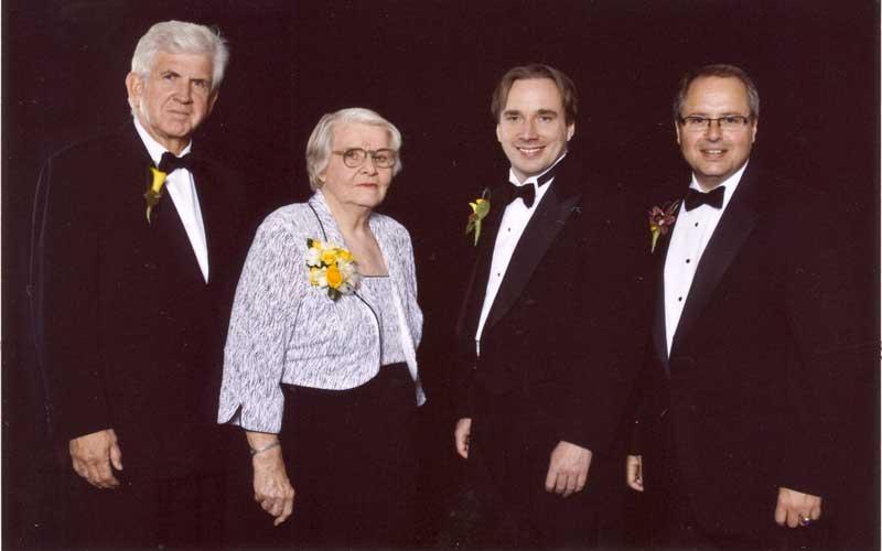
[[[499,223],[499,233],[496,234],[496,242],[493,246],[493,261],[490,268],[487,289],[484,294],[484,305],[481,309],[481,317],[477,322],[477,332],[475,332],[475,350],[477,352],[478,356],[481,355],[481,335],[484,333],[484,323],[487,321],[487,315],[493,306],[493,301],[496,299],[496,293],[499,292],[499,285],[502,285],[503,279],[505,278],[505,271],[508,269],[508,262],[512,261],[512,255],[515,253],[517,242],[520,240],[524,229],[530,222],[533,213],[535,213],[539,207],[539,203],[542,201],[542,197],[548,188],[551,187],[555,179],[552,177],[542,186],[538,186],[537,181],[548,171],[553,169],[563,159],[563,156],[566,156],[566,154],[561,155],[560,159],[555,162],[555,164],[546,169],[541,174],[530,176],[523,183],[517,181],[514,169],[508,170],[508,182],[516,186],[531,185],[536,187],[536,198],[533,202],[533,206],[527,207],[527,205],[524,204],[524,199],[518,197],[509,203],[505,207],[505,213],[503,213],[503,219]]]

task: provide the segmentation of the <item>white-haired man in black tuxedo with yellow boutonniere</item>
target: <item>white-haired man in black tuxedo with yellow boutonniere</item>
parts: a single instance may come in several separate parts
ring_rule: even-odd
[[[243,201],[191,136],[227,56],[216,31],[153,25],[126,77],[132,123],[41,173],[33,315],[53,432],[76,474],[74,548],[197,548],[222,531],[214,412]]]

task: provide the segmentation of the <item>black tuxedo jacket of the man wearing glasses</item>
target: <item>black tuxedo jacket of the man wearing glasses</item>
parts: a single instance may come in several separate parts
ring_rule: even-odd
[[[772,527],[779,486],[829,498],[849,476],[843,439],[862,338],[833,223],[843,220],[822,196],[751,163],[698,264],[669,355],[670,234],[655,253],[645,485],[658,489],[676,462],[678,491],[712,533]]]

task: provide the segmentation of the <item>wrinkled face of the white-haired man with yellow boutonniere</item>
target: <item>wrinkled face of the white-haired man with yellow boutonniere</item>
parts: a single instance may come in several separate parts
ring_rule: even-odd
[[[217,99],[206,55],[158,52],[147,78],[129,73],[126,87],[141,126],[173,152],[190,142]]]

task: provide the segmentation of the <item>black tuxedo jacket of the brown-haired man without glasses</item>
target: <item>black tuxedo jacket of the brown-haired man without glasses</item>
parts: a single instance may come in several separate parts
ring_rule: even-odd
[[[505,190],[491,212],[456,326],[459,417],[472,417],[476,382],[514,393],[552,441],[604,454],[622,434],[622,415],[648,335],[644,263],[648,231],[622,187],[604,185],[570,153],[533,214],[485,322],[481,357],[474,335]],[[550,452],[550,450],[549,450]]]

